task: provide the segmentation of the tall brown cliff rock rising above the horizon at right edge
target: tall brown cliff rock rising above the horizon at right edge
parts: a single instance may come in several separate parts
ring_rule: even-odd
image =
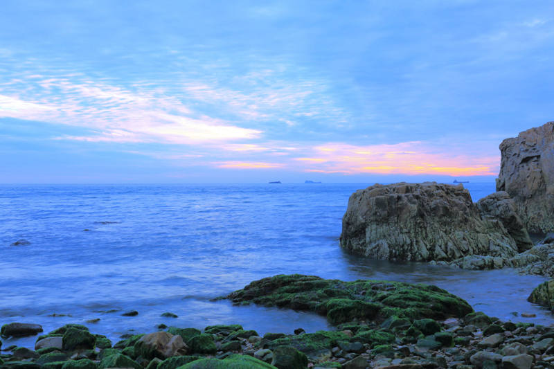
[[[500,152],[497,191],[514,199],[528,231],[554,231],[554,122],[507,138]]]

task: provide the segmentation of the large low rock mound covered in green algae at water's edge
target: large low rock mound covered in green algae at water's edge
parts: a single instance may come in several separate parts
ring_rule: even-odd
[[[325,280],[301,274],[278,275],[251,282],[226,296],[235,304],[288,307],[327,316],[332,324],[400,318],[462,317],[472,307],[431,285],[379,280]]]

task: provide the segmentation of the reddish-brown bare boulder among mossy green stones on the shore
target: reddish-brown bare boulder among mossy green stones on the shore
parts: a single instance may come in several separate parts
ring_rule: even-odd
[[[179,335],[173,335],[168,332],[154,332],[145,334],[134,344],[136,353],[145,359],[166,359],[176,355],[184,355],[187,352],[187,346]]]

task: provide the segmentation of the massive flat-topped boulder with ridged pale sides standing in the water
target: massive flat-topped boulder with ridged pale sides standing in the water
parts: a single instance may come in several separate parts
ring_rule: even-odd
[[[436,182],[376,184],[352,194],[341,246],[374,259],[413,261],[511,258],[519,251],[503,222],[481,217],[463,186]]]

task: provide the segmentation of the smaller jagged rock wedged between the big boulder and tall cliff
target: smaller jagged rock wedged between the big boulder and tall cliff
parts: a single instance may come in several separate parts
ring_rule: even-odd
[[[481,212],[481,217],[492,221],[498,219],[501,222],[514,239],[520,253],[533,247],[527,228],[517,215],[514,200],[508,192],[499,191],[483,197],[477,201],[477,208]]]

